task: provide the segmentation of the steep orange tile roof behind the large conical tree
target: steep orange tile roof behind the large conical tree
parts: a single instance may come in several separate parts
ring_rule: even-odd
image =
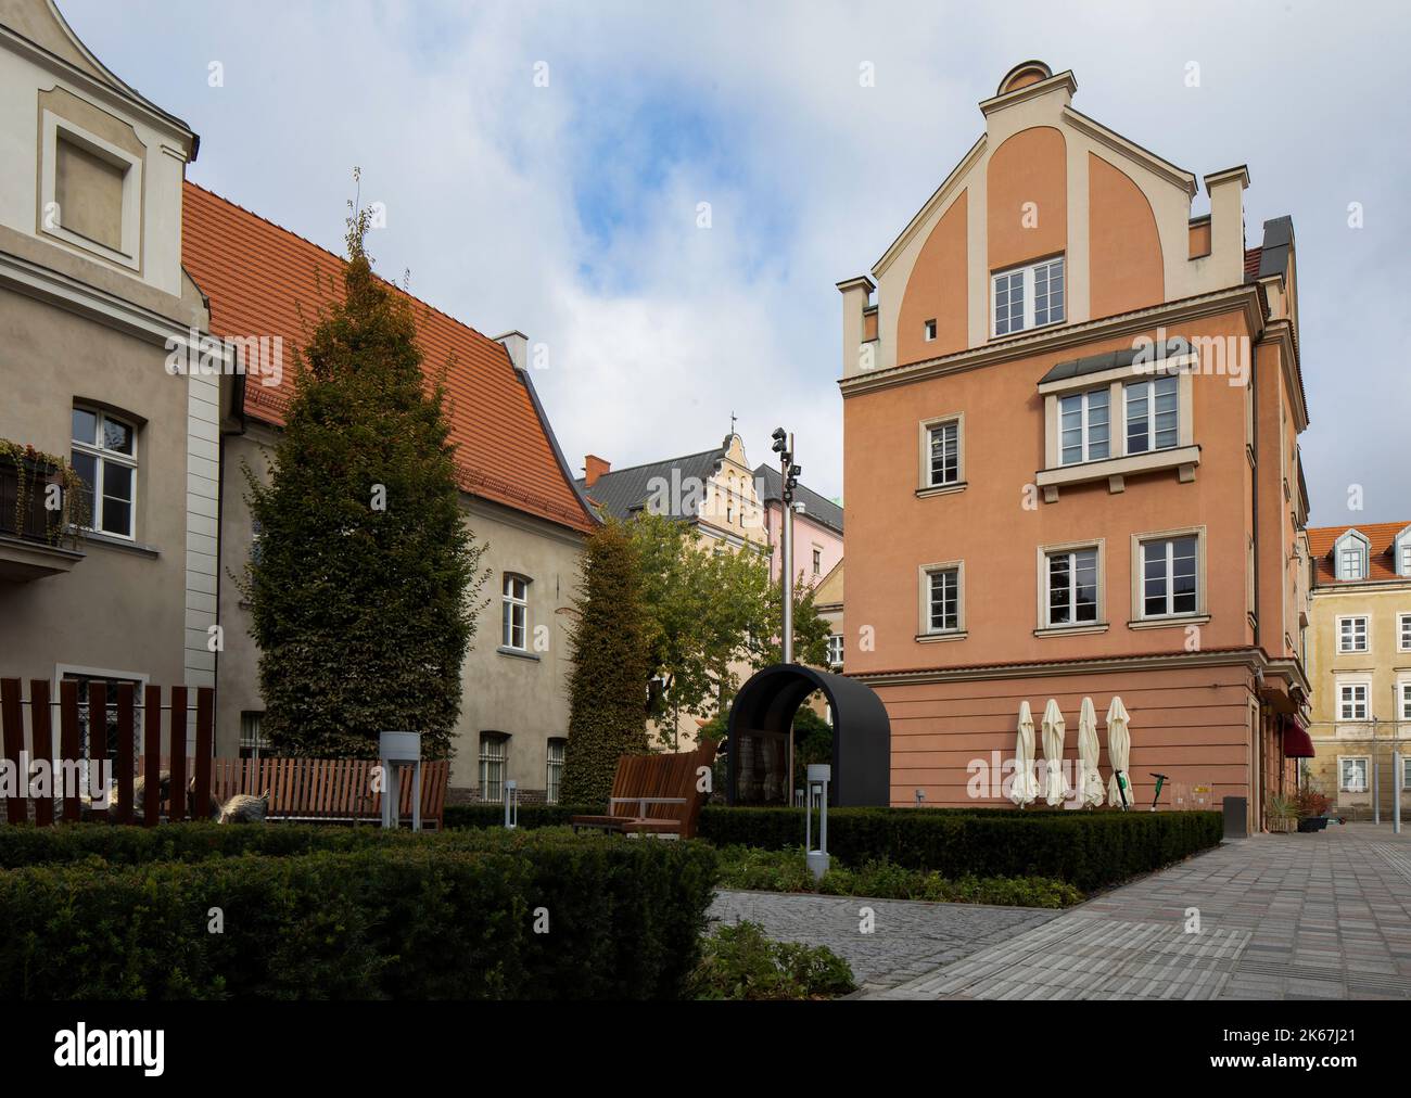
[[[210,299],[212,333],[284,337],[282,384],[246,385],[247,415],[282,425],[305,326],[316,322],[330,281],[341,296],[344,261],[192,182],[185,185],[182,217],[182,263]],[[413,303],[428,375],[454,358],[446,388],[460,487],[563,526],[591,529],[595,518],[574,491],[528,378],[505,349],[392,288]]]

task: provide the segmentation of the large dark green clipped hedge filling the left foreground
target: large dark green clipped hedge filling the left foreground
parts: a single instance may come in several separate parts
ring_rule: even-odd
[[[222,835],[202,855],[161,834],[183,828],[306,831],[346,848],[267,857],[241,838],[244,854],[220,857],[234,850],[217,848]],[[51,834],[65,831],[80,828]],[[161,841],[109,845],[135,864],[75,859],[95,845],[86,835],[52,848],[68,862],[0,872],[0,998],[674,998],[700,957],[717,872],[700,843],[559,831],[147,834]],[[141,861],[174,850],[190,859]],[[535,931],[540,909],[547,933]]]

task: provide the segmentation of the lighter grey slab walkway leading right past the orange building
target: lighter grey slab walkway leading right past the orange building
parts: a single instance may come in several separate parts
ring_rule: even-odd
[[[1199,933],[1187,933],[1188,909]],[[1226,843],[872,998],[1407,999],[1411,834]]]

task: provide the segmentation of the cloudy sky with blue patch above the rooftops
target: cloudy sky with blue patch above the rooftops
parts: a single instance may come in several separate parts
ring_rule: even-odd
[[[832,498],[835,284],[871,271],[969,150],[1006,71],[1072,69],[1078,110],[1197,176],[1247,164],[1250,244],[1292,216],[1311,521],[1411,521],[1411,6],[59,7],[200,134],[192,181],[334,251],[349,199],[384,203],[384,275],[543,344],[535,385],[576,473],[586,453],[708,449],[734,414],[756,464],[792,429],[804,483]]]

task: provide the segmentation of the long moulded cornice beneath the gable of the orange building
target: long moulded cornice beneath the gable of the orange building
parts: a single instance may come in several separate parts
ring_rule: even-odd
[[[1086,320],[1062,327],[1044,329],[1031,336],[1005,339],[988,343],[983,347],[972,347],[938,358],[926,358],[906,366],[893,366],[886,370],[873,370],[866,374],[841,378],[838,388],[842,390],[844,399],[859,392],[892,388],[895,385],[909,385],[913,381],[923,381],[945,374],[958,374],[965,370],[976,370],[985,366],[998,366],[1016,358],[1030,358],[1047,351],[1060,351],[1070,347],[1082,347],[1096,340],[1112,339],[1113,336],[1139,334],[1157,325],[1184,323],[1206,316],[1218,316],[1232,309],[1243,309],[1250,332],[1257,340],[1263,333],[1263,313],[1259,308],[1259,289],[1253,285],[1229,286],[1211,294],[1201,294],[1181,301],[1163,302],[1146,309],[1134,309],[1116,316],[1103,316],[1098,320]]]

